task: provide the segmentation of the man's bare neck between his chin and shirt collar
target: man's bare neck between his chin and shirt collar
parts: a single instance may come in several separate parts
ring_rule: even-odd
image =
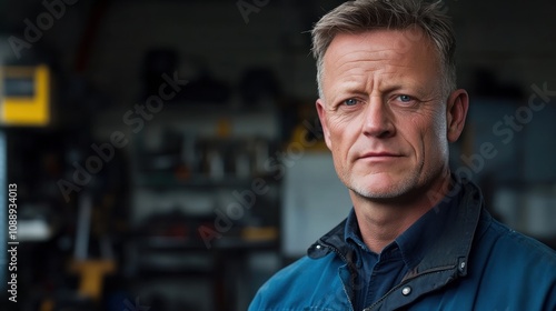
[[[350,191],[359,230],[365,244],[380,253],[397,237],[404,233],[421,215],[435,207],[448,193],[450,174],[443,174],[425,190],[408,193],[410,199],[376,200]]]

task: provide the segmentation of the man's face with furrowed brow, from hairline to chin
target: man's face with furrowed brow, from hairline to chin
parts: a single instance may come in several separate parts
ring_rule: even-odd
[[[404,198],[446,173],[448,98],[438,54],[420,37],[338,34],[325,54],[317,101],[325,140],[340,180],[365,198]]]

